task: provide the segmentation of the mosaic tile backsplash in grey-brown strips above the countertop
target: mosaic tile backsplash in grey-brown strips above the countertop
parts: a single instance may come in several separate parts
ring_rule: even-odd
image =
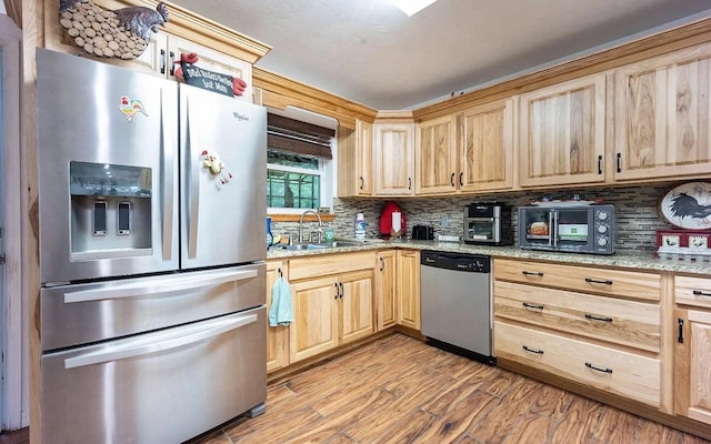
[[[515,206],[525,205],[543,196],[550,199],[570,199],[579,194],[580,199],[602,199],[615,206],[617,240],[615,250],[620,252],[652,252],[657,250],[655,230],[669,228],[657,212],[658,200],[673,185],[659,183],[642,186],[615,186],[561,191],[520,191],[492,195],[462,195],[441,198],[403,199],[336,199],[333,211],[337,215],[331,224],[337,236],[352,238],[357,213],[363,213],[368,223],[368,235],[379,235],[380,213],[388,201],[395,201],[407,219],[408,233],[412,225],[427,224],[434,228],[434,238],[439,234],[462,235],[463,206],[472,202],[503,202],[513,208],[512,225],[517,229]],[[272,231],[289,231],[298,223],[281,222]],[[313,226],[310,226],[313,229]]]

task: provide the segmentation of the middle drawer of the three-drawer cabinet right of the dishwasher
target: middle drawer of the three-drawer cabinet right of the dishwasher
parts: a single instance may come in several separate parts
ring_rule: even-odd
[[[562,290],[494,283],[494,315],[659,352],[659,305]]]

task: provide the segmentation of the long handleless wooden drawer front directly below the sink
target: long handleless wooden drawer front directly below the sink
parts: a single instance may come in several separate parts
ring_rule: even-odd
[[[372,251],[362,253],[316,255],[289,261],[289,279],[326,276],[329,274],[348,273],[357,270],[375,268],[375,253]]]

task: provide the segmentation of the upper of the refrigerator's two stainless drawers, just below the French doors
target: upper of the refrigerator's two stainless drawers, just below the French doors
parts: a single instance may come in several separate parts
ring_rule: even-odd
[[[267,303],[267,265],[42,289],[42,351],[196,322]]]

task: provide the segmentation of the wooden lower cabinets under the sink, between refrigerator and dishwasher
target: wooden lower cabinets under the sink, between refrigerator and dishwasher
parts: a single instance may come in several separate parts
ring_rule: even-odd
[[[267,261],[267,307],[279,273],[289,279],[294,322],[267,326],[267,371],[391,326],[420,330],[420,252],[380,250]]]

